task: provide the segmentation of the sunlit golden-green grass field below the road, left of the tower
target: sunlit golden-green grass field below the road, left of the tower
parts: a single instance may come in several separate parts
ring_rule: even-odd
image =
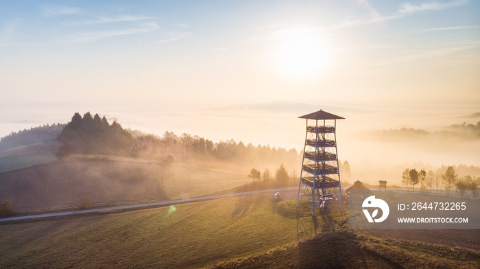
[[[296,242],[270,195],[0,226],[0,268],[197,268]]]

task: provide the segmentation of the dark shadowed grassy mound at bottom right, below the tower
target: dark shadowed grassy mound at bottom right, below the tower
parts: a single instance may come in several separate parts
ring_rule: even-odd
[[[208,268],[479,268],[480,252],[379,239],[347,229],[324,231],[299,244],[275,248]]]

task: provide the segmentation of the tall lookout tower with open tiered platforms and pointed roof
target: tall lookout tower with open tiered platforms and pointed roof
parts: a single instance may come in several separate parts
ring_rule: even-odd
[[[315,214],[316,209],[328,210],[330,201],[334,199],[339,199],[341,211],[344,211],[335,129],[337,119],[345,118],[323,110],[299,118],[307,119],[307,130],[297,207],[300,200],[307,196],[310,200],[312,215]]]

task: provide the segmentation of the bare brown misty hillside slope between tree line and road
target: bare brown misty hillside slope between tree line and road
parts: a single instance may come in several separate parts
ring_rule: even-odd
[[[0,174],[0,197],[19,211],[93,207],[171,200],[210,194],[251,180],[232,172],[106,156],[53,161]]]

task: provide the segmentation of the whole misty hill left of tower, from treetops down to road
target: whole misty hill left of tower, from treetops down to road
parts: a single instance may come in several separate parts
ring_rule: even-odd
[[[128,132],[88,112],[12,133],[0,145],[8,148],[0,151],[0,200],[22,214],[202,196],[250,182],[250,165],[267,167],[268,176],[268,168],[298,159],[296,150]]]

